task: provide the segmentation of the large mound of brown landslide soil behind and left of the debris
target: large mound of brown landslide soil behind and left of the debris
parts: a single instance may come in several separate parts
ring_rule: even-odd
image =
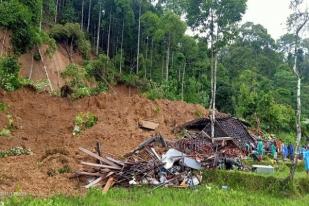
[[[18,189],[39,196],[82,191],[78,181],[69,178],[85,158],[78,151],[80,146],[92,149],[99,141],[103,152],[123,155],[156,132],[175,138],[176,125],[207,113],[202,106],[181,101],[150,101],[124,86],[78,101],[21,89],[6,93],[1,101],[10,106],[17,129],[11,138],[0,137],[0,150],[21,146],[33,154],[0,159],[0,191]],[[73,136],[78,112],[94,113],[98,123]],[[145,131],[138,127],[139,120],[160,125],[157,131]]]

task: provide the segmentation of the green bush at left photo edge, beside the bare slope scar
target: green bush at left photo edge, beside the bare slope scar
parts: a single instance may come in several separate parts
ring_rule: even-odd
[[[15,57],[0,57],[0,88],[14,91],[20,87],[19,65]]]

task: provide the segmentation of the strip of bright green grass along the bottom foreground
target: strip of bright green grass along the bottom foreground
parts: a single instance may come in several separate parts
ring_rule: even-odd
[[[113,188],[107,194],[102,193],[100,190],[91,190],[84,197],[55,196],[47,199],[12,197],[4,201],[4,206],[308,206],[308,202],[308,195],[286,198],[259,192],[234,190],[233,188],[223,190],[214,185],[203,185],[196,189],[161,188],[155,191],[152,188]]]

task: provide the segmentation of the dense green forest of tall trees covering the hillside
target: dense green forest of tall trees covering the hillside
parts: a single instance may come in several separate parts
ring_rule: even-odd
[[[62,45],[76,98],[122,83],[150,99],[183,100],[208,108],[217,68],[216,108],[264,134],[295,141],[297,77],[302,79],[302,128],[308,135],[309,39],[292,32],[273,39],[263,25],[242,22],[246,0],[2,0],[0,28],[13,52],[0,58],[0,87],[13,91],[17,58],[40,45]],[[295,50],[295,39],[299,46]],[[296,41],[297,42],[297,41]],[[80,53],[84,63],[74,63]],[[86,82],[92,79],[96,87]],[[50,88],[53,90],[53,88]],[[306,124],[307,123],[307,124]]]

